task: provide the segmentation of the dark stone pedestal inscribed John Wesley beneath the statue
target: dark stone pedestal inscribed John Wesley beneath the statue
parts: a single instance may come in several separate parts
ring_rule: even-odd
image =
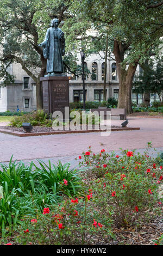
[[[65,107],[69,107],[68,76],[40,77],[42,83],[43,109],[47,114],[61,111],[65,114]]]

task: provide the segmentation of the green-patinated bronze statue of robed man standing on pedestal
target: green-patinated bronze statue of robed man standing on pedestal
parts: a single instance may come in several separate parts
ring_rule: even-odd
[[[46,76],[61,76],[64,72],[62,56],[65,55],[65,38],[64,32],[58,28],[58,19],[52,20],[45,40],[39,46],[43,47],[43,57],[47,59]]]

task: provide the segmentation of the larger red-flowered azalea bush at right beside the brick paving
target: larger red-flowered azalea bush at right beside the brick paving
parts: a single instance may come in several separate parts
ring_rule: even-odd
[[[147,154],[124,150],[115,155],[102,149],[95,155],[89,148],[79,156],[80,164],[99,178],[91,184],[93,202],[104,218],[111,215],[117,227],[139,227],[142,216],[148,221],[154,208],[159,213],[158,188],[163,167],[156,166],[156,160]]]

